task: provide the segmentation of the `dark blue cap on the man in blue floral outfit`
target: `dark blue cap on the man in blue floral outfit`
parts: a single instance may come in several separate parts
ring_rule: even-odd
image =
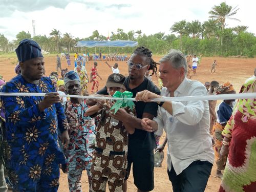
[[[29,59],[43,57],[41,48],[36,41],[31,39],[23,39],[19,42],[17,49],[15,49],[18,61],[24,62]]]

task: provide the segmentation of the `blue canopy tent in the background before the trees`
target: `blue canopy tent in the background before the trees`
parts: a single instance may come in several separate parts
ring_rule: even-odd
[[[112,41],[95,41],[95,40],[80,40],[76,43],[74,47],[89,47],[93,48],[95,47],[136,47],[138,46],[137,41],[132,40],[112,40]],[[110,49],[109,49],[110,52]]]

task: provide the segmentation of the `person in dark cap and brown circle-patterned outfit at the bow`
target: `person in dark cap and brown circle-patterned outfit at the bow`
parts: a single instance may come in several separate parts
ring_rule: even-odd
[[[109,95],[114,95],[116,91],[124,92],[123,86],[125,77],[121,74],[113,73],[106,81]],[[93,191],[106,191],[108,182],[110,191],[125,191],[125,175],[127,168],[128,133],[133,134],[133,127],[126,127],[121,121],[116,126],[111,125],[109,114],[110,106],[108,101],[105,109],[100,109],[98,105],[91,106],[87,110],[87,115],[100,113],[100,122],[97,128],[95,155],[91,167],[93,177]],[[108,109],[107,111],[105,111]],[[127,113],[136,116],[135,108],[124,109]]]

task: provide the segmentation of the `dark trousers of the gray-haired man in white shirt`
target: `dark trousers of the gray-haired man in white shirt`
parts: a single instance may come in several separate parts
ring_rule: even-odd
[[[167,173],[174,192],[203,192],[210,176],[212,164],[208,161],[194,161],[177,175],[174,167]]]

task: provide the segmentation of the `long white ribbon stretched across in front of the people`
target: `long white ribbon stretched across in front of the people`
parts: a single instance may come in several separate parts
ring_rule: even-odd
[[[45,93],[1,93],[0,96],[40,96],[44,97]],[[113,99],[105,96],[82,96],[82,95],[59,95],[60,97],[73,97],[83,99]],[[223,95],[204,95],[204,96],[186,96],[186,97],[161,97],[151,99],[151,101],[198,101],[198,100],[223,100],[223,99],[248,99],[256,98],[256,93],[240,93],[240,94],[223,94]],[[123,98],[115,98],[122,100]],[[135,101],[135,98],[125,98]]]

